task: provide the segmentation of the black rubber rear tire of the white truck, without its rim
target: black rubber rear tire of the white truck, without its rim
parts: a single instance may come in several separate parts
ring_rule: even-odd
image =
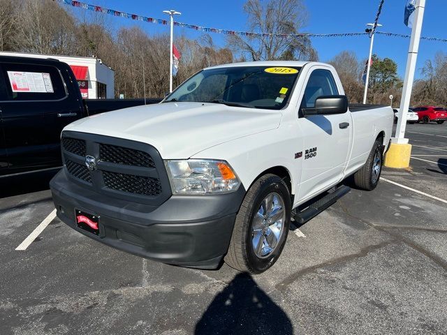
[[[374,165],[374,158],[376,155],[379,157],[379,172],[378,174],[373,176],[372,167]],[[382,172],[382,162],[383,162],[383,145],[380,140],[376,140],[372,145],[371,152],[369,153],[368,159],[365,165],[362,166],[360,170],[358,170],[354,174],[354,184],[358,188],[362,188],[365,191],[372,191],[376,188],[379,183],[380,175]]]

